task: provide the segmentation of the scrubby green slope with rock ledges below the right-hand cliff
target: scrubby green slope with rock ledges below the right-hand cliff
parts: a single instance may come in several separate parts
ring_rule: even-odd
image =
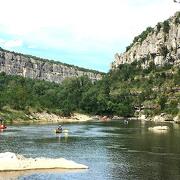
[[[171,117],[180,114],[180,68],[166,64],[157,67],[150,63],[142,69],[139,62],[120,65],[111,72],[111,94],[118,98],[124,91],[131,99],[134,115],[155,116],[162,113]],[[117,79],[118,78],[118,79]]]

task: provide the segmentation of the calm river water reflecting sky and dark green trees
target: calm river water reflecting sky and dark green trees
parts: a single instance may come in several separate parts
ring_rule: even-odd
[[[68,135],[55,134],[55,124],[9,126],[0,133],[0,152],[63,157],[89,169],[0,172],[0,179],[180,179],[180,126],[166,123],[165,133],[148,130],[155,125],[122,120],[69,123],[63,125]]]

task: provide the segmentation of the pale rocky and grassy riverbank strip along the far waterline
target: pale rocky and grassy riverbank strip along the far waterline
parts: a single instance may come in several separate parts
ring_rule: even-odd
[[[5,120],[7,124],[21,124],[21,123],[66,123],[66,122],[84,122],[98,119],[100,121],[111,120],[141,120],[141,121],[154,121],[154,122],[175,122],[180,123],[180,115],[173,117],[172,115],[161,113],[156,116],[146,116],[141,114],[135,117],[119,117],[119,116],[91,116],[82,113],[73,113],[71,116],[65,117],[47,111],[26,113],[24,111],[17,111],[14,109],[6,108],[0,111],[0,117]]]

